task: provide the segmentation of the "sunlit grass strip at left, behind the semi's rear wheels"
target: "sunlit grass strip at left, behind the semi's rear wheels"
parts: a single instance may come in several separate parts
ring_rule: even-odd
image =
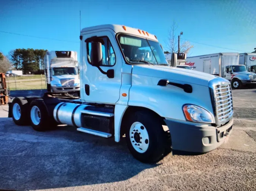
[[[11,82],[9,82],[9,87],[10,87],[10,90],[46,89],[46,81],[45,79],[41,80],[41,78],[33,81],[16,80],[16,85],[15,85],[15,81],[11,80]]]

